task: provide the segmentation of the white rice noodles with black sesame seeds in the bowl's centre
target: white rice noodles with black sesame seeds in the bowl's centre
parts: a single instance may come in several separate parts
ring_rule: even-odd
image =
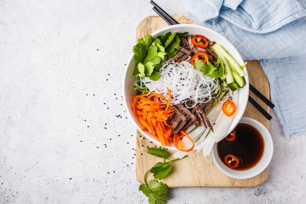
[[[166,98],[168,98],[168,87],[172,93],[171,105],[186,103],[189,100],[194,101],[195,105],[202,104],[218,97],[220,93],[218,79],[204,77],[203,72],[194,69],[189,62],[175,63],[168,60],[159,72],[161,75],[159,80],[153,81],[149,77],[140,80],[150,92],[160,93]]]

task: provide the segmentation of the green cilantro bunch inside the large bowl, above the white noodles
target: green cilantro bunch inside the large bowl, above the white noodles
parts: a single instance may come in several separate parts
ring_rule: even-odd
[[[151,80],[158,80],[162,62],[177,53],[176,48],[180,43],[179,37],[183,35],[186,35],[186,32],[168,32],[154,40],[151,35],[140,38],[133,47],[133,59],[138,63],[134,69],[135,77],[149,77]]]

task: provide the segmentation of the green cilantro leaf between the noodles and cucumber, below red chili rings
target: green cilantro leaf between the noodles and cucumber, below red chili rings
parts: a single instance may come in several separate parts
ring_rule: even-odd
[[[217,63],[217,66],[219,66],[219,63]],[[224,73],[223,66],[219,66],[219,68],[217,68],[214,65],[212,65],[209,61],[206,64],[204,64],[204,63],[196,60],[194,68],[204,71],[203,76],[220,78]]]

